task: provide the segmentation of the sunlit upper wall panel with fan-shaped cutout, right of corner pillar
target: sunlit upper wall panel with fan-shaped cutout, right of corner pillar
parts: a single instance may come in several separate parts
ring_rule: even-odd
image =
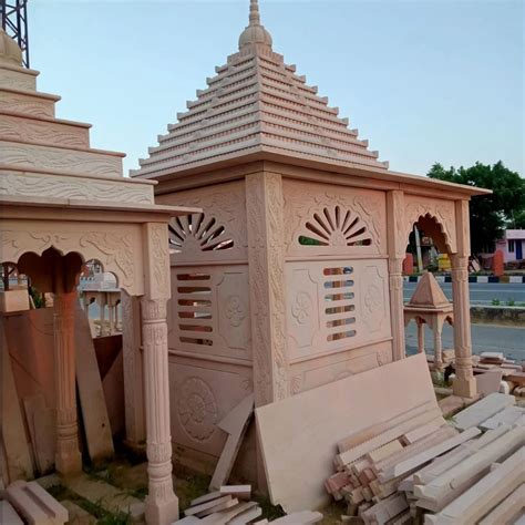
[[[285,179],[287,256],[387,254],[383,192]]]

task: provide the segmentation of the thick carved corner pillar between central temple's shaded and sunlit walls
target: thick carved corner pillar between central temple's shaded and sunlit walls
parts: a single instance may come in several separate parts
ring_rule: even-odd
[[[285,217],[282,178],[246,177],[248,262],[256,406],[289,395],[285,311]]]

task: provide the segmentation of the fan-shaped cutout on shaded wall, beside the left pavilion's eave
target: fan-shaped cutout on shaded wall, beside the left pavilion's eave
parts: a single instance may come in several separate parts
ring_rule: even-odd
[[[169,247],[181,253],[188,247],[202,251],[231,249],[234,240],[226,228],[206,214],[175,217],[169,223]]]

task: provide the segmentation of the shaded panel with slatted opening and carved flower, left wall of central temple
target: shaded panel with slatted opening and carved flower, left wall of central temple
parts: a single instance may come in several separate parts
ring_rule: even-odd
[[[251,359],[248,267],[172,267],[169,348]]]

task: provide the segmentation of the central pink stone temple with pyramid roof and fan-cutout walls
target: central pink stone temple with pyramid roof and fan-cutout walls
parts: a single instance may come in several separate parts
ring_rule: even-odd
[[[485,192],[390,171],[274,51],[256,0],[238,51],[206,82],[132,173],[158,182],[157,204],[203,209],[169,223],[177,456],[213,467],[217,423],[251,392],[262,405],[403,359],[414,223],[451,256],[454,392],[473,397],[469,200]],[[140,363],[133,341],[127,354]],[[239,464],[256,478],[250,440]]]

